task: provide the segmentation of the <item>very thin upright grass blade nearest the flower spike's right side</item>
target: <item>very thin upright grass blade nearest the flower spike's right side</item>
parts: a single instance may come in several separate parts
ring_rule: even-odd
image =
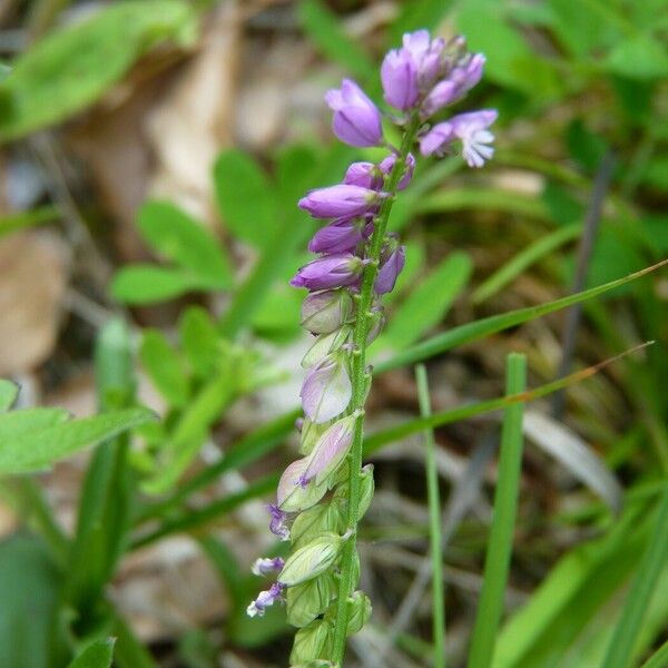
[[[423,364],[415,367],[420,414],[431,415],[429,380]],[[424,430],[424,450],[426,459],[426,493],[429,500],[429,540],[432,564],[432,609],[434,668],[445,668],[445,597],[443,592],[443,557],[441,554],[441,499],[439,495],[439,473],[436,471],[434,432]]]

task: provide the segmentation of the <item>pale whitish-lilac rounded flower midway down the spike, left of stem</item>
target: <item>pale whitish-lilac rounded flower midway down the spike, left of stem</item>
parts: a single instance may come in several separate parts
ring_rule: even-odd
[[[312,366],[302,385],[302,405],[306,418],[327,422],[346,410],[353,386],[343,354],[334,353]]]

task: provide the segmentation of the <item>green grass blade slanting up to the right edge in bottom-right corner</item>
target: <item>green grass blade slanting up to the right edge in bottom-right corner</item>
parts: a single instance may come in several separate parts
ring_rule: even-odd
[[[655,584],[668,560],[668,484],[659,503],[656,527],[631,584],[601,668],[628,668]]]

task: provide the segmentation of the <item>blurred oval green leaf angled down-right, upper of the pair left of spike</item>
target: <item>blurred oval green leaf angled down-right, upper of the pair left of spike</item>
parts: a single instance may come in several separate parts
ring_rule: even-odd
[[[202,285],[224,289],[232,285],[229,261],[218,239],[168,202],[147,202],[137,220],[141,236],[160,255],[189,269]]]

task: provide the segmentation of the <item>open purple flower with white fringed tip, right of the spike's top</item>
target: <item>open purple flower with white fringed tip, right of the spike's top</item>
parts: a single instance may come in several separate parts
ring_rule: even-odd
[[[454,139],[462,143],[462,156],[469,167],[482,167],[494,149],[489,146],[494,135],[489,127],[497,120],[495,109],[483,109],[452,117],[445,122],[435,125],[420,140],[422,155],[442,154]]]

